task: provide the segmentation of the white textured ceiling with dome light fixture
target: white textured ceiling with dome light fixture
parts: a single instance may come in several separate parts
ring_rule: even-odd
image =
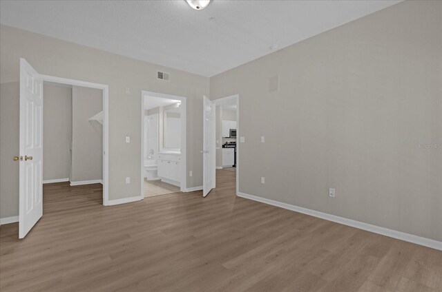
[[[0,23],[213,76],[399,1],[0,1]]]

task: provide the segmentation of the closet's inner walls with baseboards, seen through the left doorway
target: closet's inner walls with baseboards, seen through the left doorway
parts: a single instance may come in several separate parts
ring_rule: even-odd
[[[46,81],[43,92],[44,195],[49,184],[102,184],[102,90]]]

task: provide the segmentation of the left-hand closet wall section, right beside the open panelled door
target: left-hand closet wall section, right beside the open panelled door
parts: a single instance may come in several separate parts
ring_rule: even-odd
[[[70,178],[72,87],[45,83],[43,92],[43,180]]]

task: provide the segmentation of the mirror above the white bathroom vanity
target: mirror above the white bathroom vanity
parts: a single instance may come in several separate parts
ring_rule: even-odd
[[[181,148],[181,107],[164,110],[163,147],[173,151]]]

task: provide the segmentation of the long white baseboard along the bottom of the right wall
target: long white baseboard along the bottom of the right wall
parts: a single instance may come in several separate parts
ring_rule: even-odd
[[[348,219],[348,218],[343,218],[343,217],[339,217],[339,216],[323,213],[323,212],[320,212],[320,211],[315,211],[315,210],[311,210],[311,209],[307,209],[307,208],[303,208],[303,207],[298,207],[296,205],[290,205],[290,204],[287,204],[285,202],[278,202],[276,200],[270,200],[270,199],[267,199],[267,198],[261,198],[261,197],[258,197],[258,196],[244,194],[244,193],[241,193],[239,191],[237,193],[237,196],[240,196],[242,198],[247,198],[247,199],[250,199],[250,200],[255,200],[257,202],[263,202],[263,203],[268,204],[268,205],[272,205],[272,206],[288,209],[288,210],[291,210],[291,211],[296,211],[296,212],[299,212],[299,213],[304,213],[304,214],[307,214],[307,215],[310,215],[310,216],[322,218],[322,219],[325,219],[325,220],[329,220],[329,221],[340,223],[340,224],[343,224],[343,225],[355,227],[355,228],[358,228],[358,229],[363,229],[363,230],[370,231],[370,232],[373,232],[373,233],[378,233],[378,234],[381,234],[383,236],[388,236],[388,237],[391,237],[391,238],[396,238],[396,239],[399,239],[399,240],[404,240],[404,241],[407,241],[407,242],[412,242],[412,243],[415,243],[415,244],[423,245],[424,247],[430,247],[432,249],[439,249],[439,250],[442,251],[442,242],[437,241],[437,240],[432,240],[430,238],[423,238],[421,236],[415,236],[413,234],[404,233],[404,232],[401,232],[401,231],[387,229],[387,228],[384,228],[384,227],[379,227],[379,226],[376,226],[376,225],[371,225],[371,224],[368,224],[368,223],[364,223],[364,222],[360,222],[360,221],[356,221],[356,220],[352,220],[352,219]]]

